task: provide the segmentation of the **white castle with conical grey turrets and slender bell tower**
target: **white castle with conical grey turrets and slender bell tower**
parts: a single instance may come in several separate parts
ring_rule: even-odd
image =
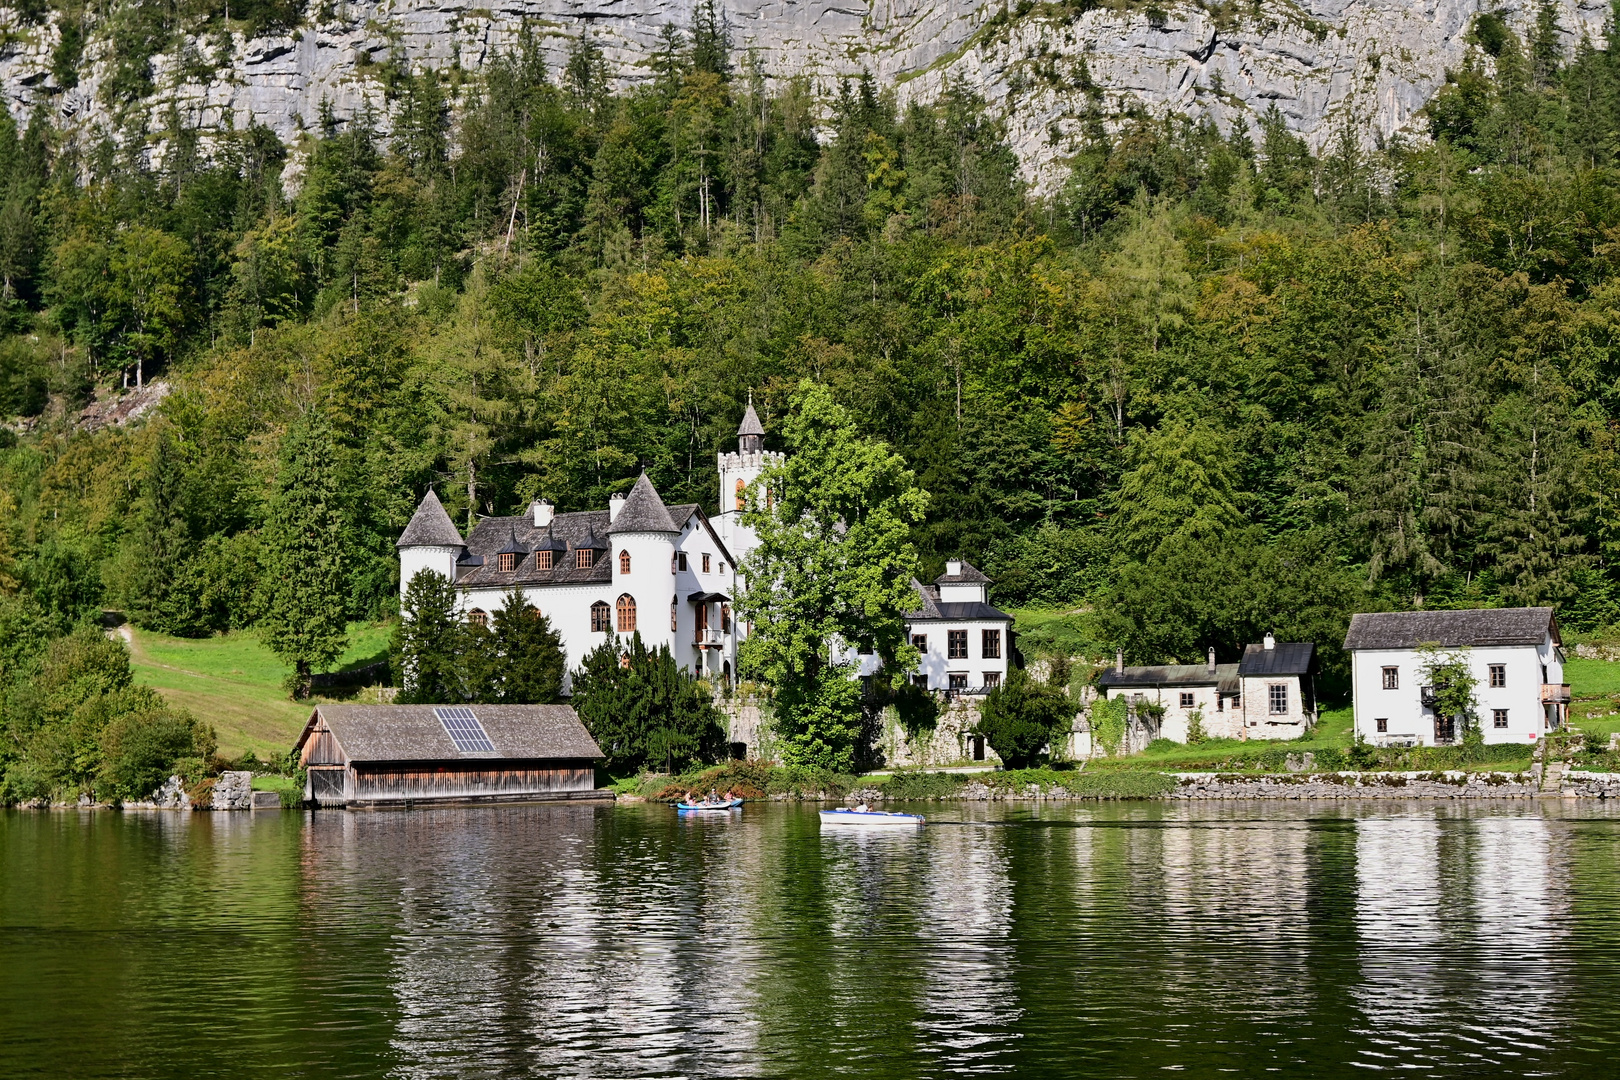
[[[761,436],[750,403],[739,429],[744,450],[721,455],[723,483],[747,487],[781,457],[761,450]],[[740,552],[701,507],[666,507],[643,473],[606,510],[556,513],[536,499],[528,513],[481,518],[463,539],[429,491],[397,542],[400,594],[418,572],[436,570],[455,585],[467,619],[484,622],[517,588],[562,638],[569,670],[609,633],[640,631],[648,648],[667,644],[687,670],[731,682],[737,560],[757,542],[735,518],[734,510],[723,515],[723,528],[747,544]]]

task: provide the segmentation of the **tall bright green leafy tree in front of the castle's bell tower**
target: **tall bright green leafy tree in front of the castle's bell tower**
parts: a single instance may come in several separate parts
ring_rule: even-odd
[[[737,602],[750,623],[742,664],[774,688],[784,758],[849,771],[860,699],[841,687],[849,672],[833,651],[862,641],[894,670],[915,664],[904,620],[917,604],[909,529],[928,495],[821,384],[799,385],[782,437],[786,460],[765,470],[744,512],[760,544]]]

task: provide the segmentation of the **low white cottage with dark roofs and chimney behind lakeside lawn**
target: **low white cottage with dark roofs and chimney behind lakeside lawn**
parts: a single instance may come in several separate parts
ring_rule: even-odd
[[[1108,699],[1155,706],[1149,738],[1187,742],[1192,714],[1212,738],[1299,738],[1315,724],[1315,644],[1272,635],[1247,644],[1238,664],[1158,664],[1115,667],[1097,678]],[[1147,711],[1142,711],[1144,714]]]

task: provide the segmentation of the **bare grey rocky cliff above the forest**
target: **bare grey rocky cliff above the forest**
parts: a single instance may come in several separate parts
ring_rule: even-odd
[[[484,3],[486,0],[480,0]],[[1557,0],[1567,49],[1601,34],[1602,0]],[[1413,125],[1448,66],[1466,55],[1481,10],[1526,32],[1528,0],[1252,0],[1140,5],[1121,0],[1021,5],[977,0],[727,0],[739,50],[771,76],[807,74],[821,89],[872,71],[902,99],[928,99],[964,78],[1008,120],[1027,176],[1050,186],[1089,108],[1131,105],[1210,115],[1223,128],[1277,105],[1312,146],[1349,125],[1387,139]],[[178,110],[204,128],[264,123],[295,142],[322,100],[337,115],[369,107],[387,125],[379,74],[400,62],[476,70],[517,39],[523,19],[541,36],[552,70],[590,32],[622,83],[646,76],[666,24],[688,26],[693,0],[386,0],[314,5],[285,36],[178,36],[151,62],[152,91],[117,100],[112,34],[91,23],[71,74],[62,70],[60,19],[28,24],[0,6],[0,89],[13,115],[49,110],[70,133],[159,131]],[[62,86],[75,81],[76,86]],[[133,121],[133,123],[131,123]],[[160,141],[154,141],[160,152]]]

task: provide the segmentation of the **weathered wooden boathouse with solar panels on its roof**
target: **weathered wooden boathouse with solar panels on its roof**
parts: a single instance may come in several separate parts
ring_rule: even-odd
[[[322,704],[298,737],[318,806],[596,798],[603,756],[565,704]]]

